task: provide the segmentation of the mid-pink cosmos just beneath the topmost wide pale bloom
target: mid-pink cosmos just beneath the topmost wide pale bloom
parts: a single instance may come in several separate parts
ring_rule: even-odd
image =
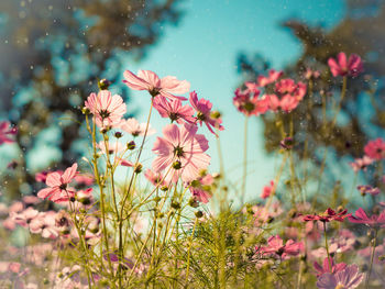
[[[154,98],[154,108],[160,112],[162,118],[168,118],[172,122],[176,121],[183,124],[184,121],[194,123],[196,119],[194,115],[194,109],[189,105],[183,105],[180,100],[170,100],[162,96]]]

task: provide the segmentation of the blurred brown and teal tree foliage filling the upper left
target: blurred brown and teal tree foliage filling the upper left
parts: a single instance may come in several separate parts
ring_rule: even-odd
[[[31,192],[26,184],[35,182],[36,169],[47,168],[30,157],[36,149],[48,168],[65,168],[81,156],[86,134],[78,108],[97,90],[98,78],[124,89],[121,57],[143,57],[167,25],[177,24],[177,2],[0,1],[0,113],[20,131],[20,159],[1,184],[13,198]]]

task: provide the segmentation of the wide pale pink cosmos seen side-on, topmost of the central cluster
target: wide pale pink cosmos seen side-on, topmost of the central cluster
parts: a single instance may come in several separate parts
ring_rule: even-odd
[[[176,97],[176,95],[186,93],[190,89],[190,84],[186,80],[178,80],[174,76],[166,76],[162,79],[151,70],[139,70],[135,76],[130,70],[124,71],[123,82],[134,90],[147,90],[152,97],[158,95],[169,98],[186,100],[184,97]]]

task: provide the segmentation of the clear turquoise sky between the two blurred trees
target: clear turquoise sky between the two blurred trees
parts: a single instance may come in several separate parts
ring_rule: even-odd
[[[148,56],[139,63],[128,60],[125,68],[136,71],[148,69],[162,76],[173,75],[187,79],[198,97],[209,99],[215,109],[223,113],[226,130],[220,140],[224,165],[231,180],[241,177],[244,118],[233,108],[233,91],[241,81],[237,74],[237,56],[240,52],[260,53],[274,68],[283,68],[295,62],[301,45],[279,23],[289,18],[321,24],[330,29],[344,15],[343,1],[186,1],[185,11],[176,27],[166,27],[165,34]],[[132,110],[140,109],[138,119],[145,121],[150,99],[145,92],[132,92]],[[130,111],[130,105],[129,105]],[[157,112],[152,124],[158,131],[166,124]],[[201,130],[210,141],[211,170],[218,169],[216,140]],[[154,137],[150,140],[152,142]],[[266,156],[263,148],[263,127],[255,118],[249,125],[249,181],[248,197],[255,198],[262,187],[274,177],[275,158]],[[148,144],[148,149],[151,144]],[[151,158],[150,152],[145,158]],[[150,163],[147,164],[150,165]],[[237,169],[238,168],[238,169]]]

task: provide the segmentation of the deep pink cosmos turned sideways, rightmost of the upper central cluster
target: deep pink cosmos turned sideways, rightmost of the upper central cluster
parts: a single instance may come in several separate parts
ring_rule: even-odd
[[[209,129],[209,131],[213,134],[216,134],[216,132],[212,130],[212,127],[218,129],[219,131],[224,130],[221,125],[222,120],[213,119],[211,116],[212,103],[209,100],[202,98],[198,100],[197,93],[193,91],[190,92],[189,101],[191,107],[197,111],[197,121],[200,125],[205,123],[207,129]]]

